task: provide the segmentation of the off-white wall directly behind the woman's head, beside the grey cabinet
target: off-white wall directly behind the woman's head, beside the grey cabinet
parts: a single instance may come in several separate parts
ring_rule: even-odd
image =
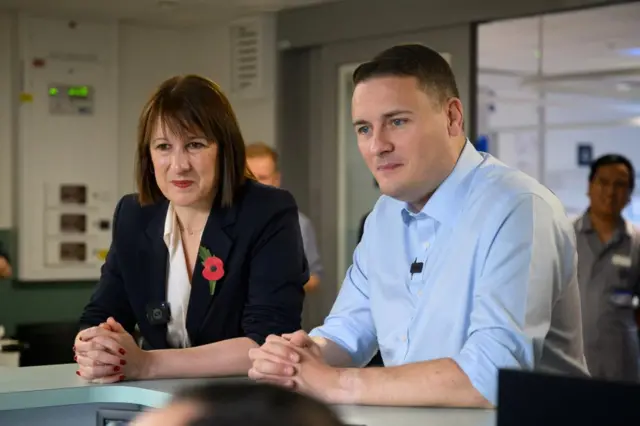
[[[15,186],[11,166],[13,123],[11,98],[13,78],[10,62],[13,49],[10,30],[17,17],[0,11],[0,228],[14,225],[12,192]],[[266,22],[266,44],[275,41],[275,16],[262,16]],[[140,110],[157,85],[176,74],[195,73],[216,81],[229,96],[247,142],[262,140],[275,146],[276,108],[275,51],[266,55],[265,96],[256,100],[234,99],[230,91],[230,46],[227,26],[177,30],[120,25],[119,33],[119,182],[121,194],[134,190],[133,154]],[[275,43],[273,43],[275,45]],[[34,171],[37,173],[36,171]]]

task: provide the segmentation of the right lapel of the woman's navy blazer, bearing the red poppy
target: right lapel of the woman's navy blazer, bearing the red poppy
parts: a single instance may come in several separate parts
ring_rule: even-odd
[[[231,225],[235,223],[236,213],[235,206],[229,208],[212,208],[209,218],[207,219],[207,224],[202,232],[200,246],[208,249],[212,256],[222,260],[223,265],[226,265],[229,252],[233,245]],[[213,303],[215,295],[218,294],[225,281],[225,276],[223,275],[216,283],[214,294],[211,294],[209,281],[202,274],[204,270],[203,263],[203,260],[198,256],[193,270],[191,296],[187,310],[187,332],[193,345],[197,342],[198,332],[202,327],[202,323],[207,316],[207,312]]]

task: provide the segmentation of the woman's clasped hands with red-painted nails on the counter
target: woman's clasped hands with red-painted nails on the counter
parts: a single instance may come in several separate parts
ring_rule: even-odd
[[[73,347],[76,374],[92,383],[115,383],[125,379],[144,379],[149,366],[149,352],[115,319],[82,330]]]

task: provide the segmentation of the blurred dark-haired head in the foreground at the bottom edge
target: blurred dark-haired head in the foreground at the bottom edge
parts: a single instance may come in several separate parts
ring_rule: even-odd
[[[275,386],[207,384],[182,391],[131,426],[345,426],[322,402]]]

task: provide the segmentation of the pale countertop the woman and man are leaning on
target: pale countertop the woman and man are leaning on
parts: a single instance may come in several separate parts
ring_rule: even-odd
[[[86,403],[166,404],[178,389],[207,381],[246,378],[178,379],[89,384],[76,376],[76,365],[0,369],[0,411]],[[493,410],[405,408],[340,405],[344,421],[366,426],[494,426]]]

